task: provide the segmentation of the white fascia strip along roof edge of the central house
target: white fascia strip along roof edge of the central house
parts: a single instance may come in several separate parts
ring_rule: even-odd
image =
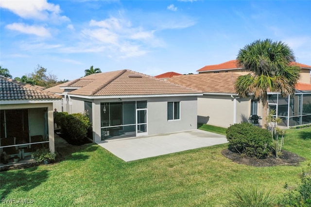
[[[113,96],[83,96],[68,94],[70,97],[85,98],[85,99],[118,99],[118,98],[149,98],[149,97],[176,97],[176,96],[203,96],[203,93],[189,93],[189,94],[164,94],[164,95],[113,95]]]

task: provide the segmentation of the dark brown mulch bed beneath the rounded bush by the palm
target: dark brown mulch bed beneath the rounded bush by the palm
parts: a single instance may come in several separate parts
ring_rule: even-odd
[[[247,155],[234,153],[228,149],[223,150],[222,155],[231,159],[233,162],[254,166],[254,167],[269,167],[279,165],[298,166],[298,164],[305,160],[302,156],[283,150],[283,155],[280,158],[276,156],[269,156],[265,159],[258,159],[257,157],[249,157]]]

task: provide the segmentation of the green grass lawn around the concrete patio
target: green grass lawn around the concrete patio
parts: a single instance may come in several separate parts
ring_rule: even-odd
[[[236,164],[221,155],[226,147],[124,162],[96,144],[73,146],[59,163],[1,172],[0,194],[4,199],[33,199],[32,206],[39,207],[221,207],[235,188],[255,183],[279,198],[284,184],[295,187],[311,163],[311,128],[286,134],[285,149],[306,158],[298,167]]]

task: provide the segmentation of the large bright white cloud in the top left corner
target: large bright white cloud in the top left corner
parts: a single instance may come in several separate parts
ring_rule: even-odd
[[[69,20],[68,17],[60,15],[59,5],[48,3],[47,0],[1,0],[0,8],[8,9],[26,19],[50,19],[54,22]]]

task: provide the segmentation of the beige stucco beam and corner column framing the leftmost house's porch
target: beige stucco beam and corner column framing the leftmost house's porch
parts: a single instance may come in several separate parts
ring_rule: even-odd
[[[32,108],[48,108],[48,132],[50,141],[50,150],[55,152],[54,145],[54,120],[53,120],[53,103],[33,103],[33,104],[1,104],[1,110],[8,109],[32,109]]]

